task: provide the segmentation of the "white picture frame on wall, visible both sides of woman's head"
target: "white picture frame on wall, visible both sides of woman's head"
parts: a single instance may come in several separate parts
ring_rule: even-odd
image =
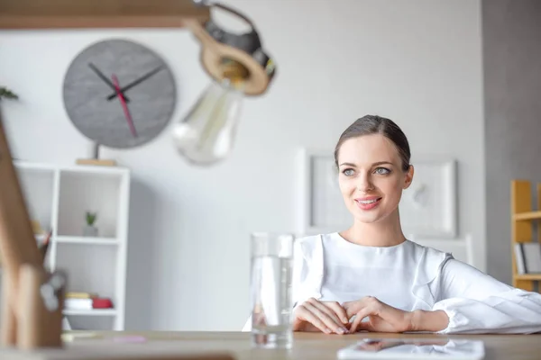
[[[349,228],[353,217],[338,185],[332,149],[300,150],[299,232],[322,234]],[[400,221],[409,238],[456,238],[457,162],[454,158],[419,157],[411,186],[399,203]]]

